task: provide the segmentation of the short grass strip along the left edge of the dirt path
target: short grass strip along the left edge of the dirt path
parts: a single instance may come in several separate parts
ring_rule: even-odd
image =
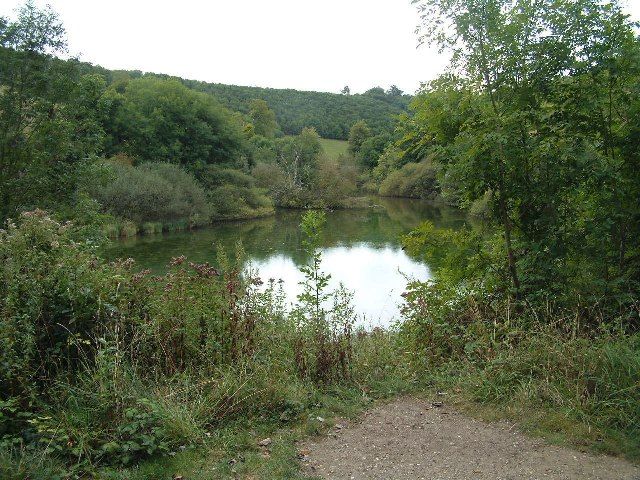
[[[396,387],[388,385],[382,390],[391,392]],[[388,394],[381,395],[380,399],[386,396]],[[308,479],[300,470],[297,442],[305,437],[325,434],[338,418],[356,418],[374,402],[358,388],[336,387],[320,395],[315,406],[293,422],[266,416],[239,419],[217,429],[209,442],[200,448],[186,449],[132,468],[104,470],[98,478]],[[258,442],[267,437],[272,439],[272,443],[266,448],[258,446]]]

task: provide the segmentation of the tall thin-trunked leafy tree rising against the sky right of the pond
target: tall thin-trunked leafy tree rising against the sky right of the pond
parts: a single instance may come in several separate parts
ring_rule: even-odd
[[[593,188],[585,174],[601,170],[602,160],[597,136],[567,131],[559,114],[567,98],[558,88],[620,65],[624,45],[633,43],[628,20],[616,1],[414,3],[422,12],[423,40],[450,49],[468,91],[481,92],[469,97],[472,108],[456,136],[449,173],[471,200],[493,192],[516,296],[523,289],[521,268],[528,283],[562,278],[575,241],[570,236],[579,231],[573,219],[580,205],[568,200]]]

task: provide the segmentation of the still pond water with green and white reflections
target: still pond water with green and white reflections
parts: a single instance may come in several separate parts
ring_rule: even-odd
[[[400,316],[407,281],[427,280],[429,266],[409,257],[399,238],[425,220],[443,228],[459,228],[463,215],[455,209],[420,200],[375,198],[370,208],[327,213],[322,237],[322,270],[331,274],[329,288],[342,282],[353,292],[358,323],[389,325]],[[307,260],[299,229],[302,212],[281,210],[273,217],[224,222],[189,232],[135,237],[113,242],[106,257],[131,257],[141,268],[165,270],[172,257],[215,264],[221,246],[233,254],[242,242],[247,263],[265,281],[282,279],[288,302],[300,293],[298,270]]]

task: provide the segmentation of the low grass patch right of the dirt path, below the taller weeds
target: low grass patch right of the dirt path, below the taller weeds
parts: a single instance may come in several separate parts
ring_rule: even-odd
[[[486,362],[445,361],[427,367],[425,376],[469,416],[506,420],[553,445],[637,463],[637,345],[637,335],[569,339],[531,332]]]

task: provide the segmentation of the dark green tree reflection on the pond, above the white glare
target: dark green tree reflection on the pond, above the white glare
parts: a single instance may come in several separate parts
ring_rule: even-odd
[[[376,207],[337,210],[327,214],[322,247],[367,244],[378,249],[399,246],[399,237],[431,220],[436,226],[458,228],[464,216],[457,210],[420,200],[375,198]],[[186,255],[194,262],[216,263],[218,247],[235,255],[242,242],[248,259],[266,260],[280,254],[296,265],[306,262],[301,248],[302,212],[279,210],[273,217],[221,222],[210,228],[162,235],[135,237],[114,242],[105,251],[107,258],[132,257],[141,267],[163,271],[172,257]]]

